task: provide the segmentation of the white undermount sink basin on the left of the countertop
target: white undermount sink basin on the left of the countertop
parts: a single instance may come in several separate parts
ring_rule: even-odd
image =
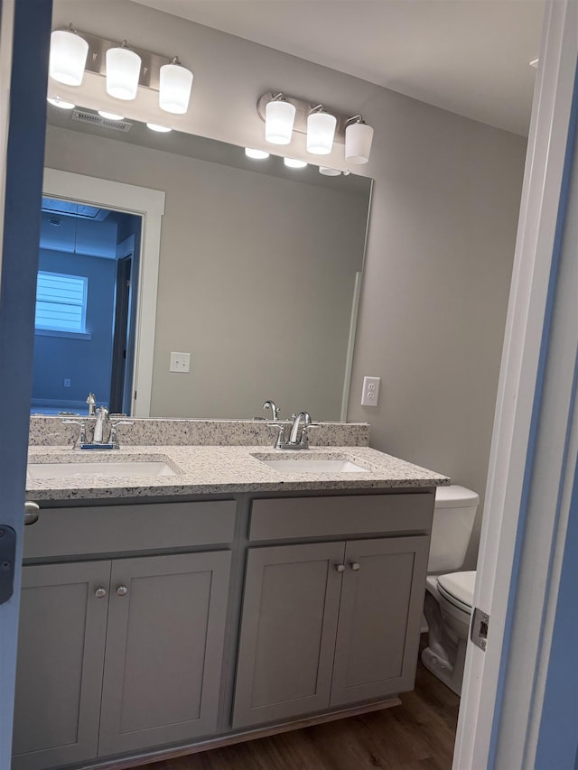
[[[177,473],[163,460],[113,460],[111,462],[31,462],[26,470],[28,478],[135,478],[141,476],[176,476]]]

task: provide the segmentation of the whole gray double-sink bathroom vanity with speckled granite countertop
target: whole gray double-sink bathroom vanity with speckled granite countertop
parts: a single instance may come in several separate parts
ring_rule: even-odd
[[[95,461],[80,454],[30,461]],[[266,464],[296,455],[320,469]],[[137,765],[413,688],[449,479],[362,446],[130,446],[98,461],[151,458],[174,474],[29,482],[41,510],[24,538],[14,770]]]

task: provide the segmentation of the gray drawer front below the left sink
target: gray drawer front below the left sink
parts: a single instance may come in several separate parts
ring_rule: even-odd
[[[24,559],[158,551],[230,543],[234,500],[82,508],[41,508],[25,529]]]

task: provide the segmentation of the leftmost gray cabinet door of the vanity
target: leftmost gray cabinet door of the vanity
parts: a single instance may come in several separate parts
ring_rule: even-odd
[[[23,568],[13,770],[97,756],[110,561]]]

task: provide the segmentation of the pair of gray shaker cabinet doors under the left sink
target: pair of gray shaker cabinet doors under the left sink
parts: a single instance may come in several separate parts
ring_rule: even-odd
[[[25,566],[13,770],[213,734],[230,559]]]

